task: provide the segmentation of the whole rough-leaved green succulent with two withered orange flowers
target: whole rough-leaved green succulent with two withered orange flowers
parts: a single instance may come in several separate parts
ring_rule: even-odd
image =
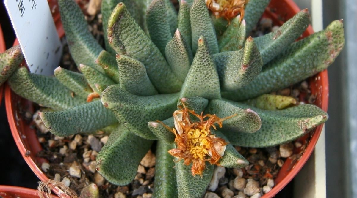
[[[20,67],[9,85],[53,110],[40,117],[55,135],[110,133],[97,156],[109,182],[130,183],[157,140],[154,197],[201,197],[214,165],[248,165],[233,145],[283,144],[327,120],[315,105],[268,93],[323,71],[344,45],[339,20],[295,42],[310,24],[307,10],[248,37],[269,0],[244,1],[244,16],[227,3],[181,0],[177,12],[170,0],[103,0],[104,50],[76,3],[59,0],[81,73]]]

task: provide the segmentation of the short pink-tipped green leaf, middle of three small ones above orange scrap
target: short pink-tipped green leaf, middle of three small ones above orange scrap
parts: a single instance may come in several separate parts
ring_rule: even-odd
[[[97,71],[96,69],[86,66],[84,64],[80,64],[80,70],[84,74],[89,83],[89,86],[96,92],[102,93],[105,88],[109,85],[115,84],[113,80],[107,77],[105,74]]]

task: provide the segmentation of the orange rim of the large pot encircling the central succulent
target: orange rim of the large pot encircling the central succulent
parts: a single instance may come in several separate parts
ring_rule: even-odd
[[[270,3],[270,6],[272,5],[272,2],[276,2],[275,4],[282,3],[285,6],[287,6],[287,11],[291,12],[292,15],[295,15],[297,12],[300,11],[300,8],[293,2],[293,0],[272,0]],[[270,13],[268,16],[270,17],[275,17],[277,19],[277,14],[273,13],[270,7],[268,6],[266,9],[266,12]],[[265,12],[265,13],[266,13]],[[62,28],[62,24],[60,23],[60,17],[54,17],[57,21],[55,22],[57,32],[59,33],[59,36],[62,37],[64,36],[64,30]],[[282,23],[282,22],[281,22]],[[281,24],[279,24],[281,25]],[[307,30],[304,32],[303,36],[308,36],[313,33],[313,29],[311,25],[307,28]],[[15,41],[15,43],[17,40]],[[14,45],[15,45],[14,43]],[[311,92],[312,94],[316,94],[316,102],[315,105],[319,106],[322,110],[327,111],[327,106],[328,106],[328,75],[327,75],[327,70],[324,70],[318,74],[316,74],[313,77],[310,77],[308,79],[308,82],[311,87]],[[16,145],[20,150],[21,155],[24,157],[26,163],[30,166],[31,170],[36,174],[37,177],[41,181],[47,180],[47,176],[40,170],[40,168],[36,165],[34,158],[37,160],[37,162],[45,162],[46,160],[43,158],[35,157],[34,155],[31,156],[26,156],[25,153],[27,151],[26,146],[23,142],[23,139],[21,138],[21,132],[24,130],[33,130],[30,129],[29,126],[24,126],[21,123],[19,124],[18,120],[16,118],[20,119],[17,116],[17,112],[15,109],[15,104],[13,104],[12,98],[15,97],[16,94],[11,91],[9,85],[6,84],[5,87],[5,104],[6,104],[6,113],[7,113],[7,118],[10,124],[10,129],[12,136],[15,139]],[[26,105],[31,105],[32,103],[30,101],[26,100]],[[32,109],[33,110],[33,109]],[[28,124],[27,124],[28,125]],[[302,137],[302,139],[307,139],[309,136],[311,136],[311,139],[309,140],[307,147],[305,151],[303,151],[303,154],[301,158],[299,158],[297,161],[294,161],[292,158],[288,157],[281,167],[281,170],[278,173],[277,178],[275,179],[276,185],[272,188],[272,190],[262,196],[262,198],[267,198],[267,197],[273,197],[275,196],[278,192],[280,192],[295,176],[296,174],[301,170],[303,165],[305,165],[306,161],[312,154],[312,151],[314,150],[317,140],[321,134],[323,128],[323,124],[317,126],[312,132],[306,134],[305,136]],[[27,140],[32,140],[33,142],[31,143],[31,148],[40,151],[42,150],[41,145],[36,137],[36,134],[32,132],[32,136],[30,134],[26,134],[26,139]],[[304,141],[305,141],[304,140]],[[293,166],[292,166],[293,165]],[[60,189],[53,189],[53,191],[59,196],[59,197],[68,197],[66,194],[60,191]]]

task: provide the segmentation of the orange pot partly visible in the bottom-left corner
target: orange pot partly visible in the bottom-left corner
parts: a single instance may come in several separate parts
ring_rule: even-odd
[[[0,186],[0,196],[4,198],[40,198],[35,189],[17,186]],[[52,196],[52,198],[58,198]]]

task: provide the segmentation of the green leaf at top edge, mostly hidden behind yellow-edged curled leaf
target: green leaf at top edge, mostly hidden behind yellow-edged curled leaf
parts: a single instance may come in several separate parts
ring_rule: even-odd
[[[103,33],[104,33],[104,41],[105,41],[105,48],[106,50],[115,55],[116,53],[125,54],[124,46],[122,48],[116,47],[116,51],[109,45],[108,42],[108,20],[109,17],[114,10],[115,6],[119,4],[119,2],[123,2],[125,5],[128,6],[128,11],[130,12],[131,16],[135,19],[135,21],[144,28],[144,16],[146,12],[146,1],[144,0],[102,0],[101,5],[101,14],[102,14],[102,24],[103,24]]]

